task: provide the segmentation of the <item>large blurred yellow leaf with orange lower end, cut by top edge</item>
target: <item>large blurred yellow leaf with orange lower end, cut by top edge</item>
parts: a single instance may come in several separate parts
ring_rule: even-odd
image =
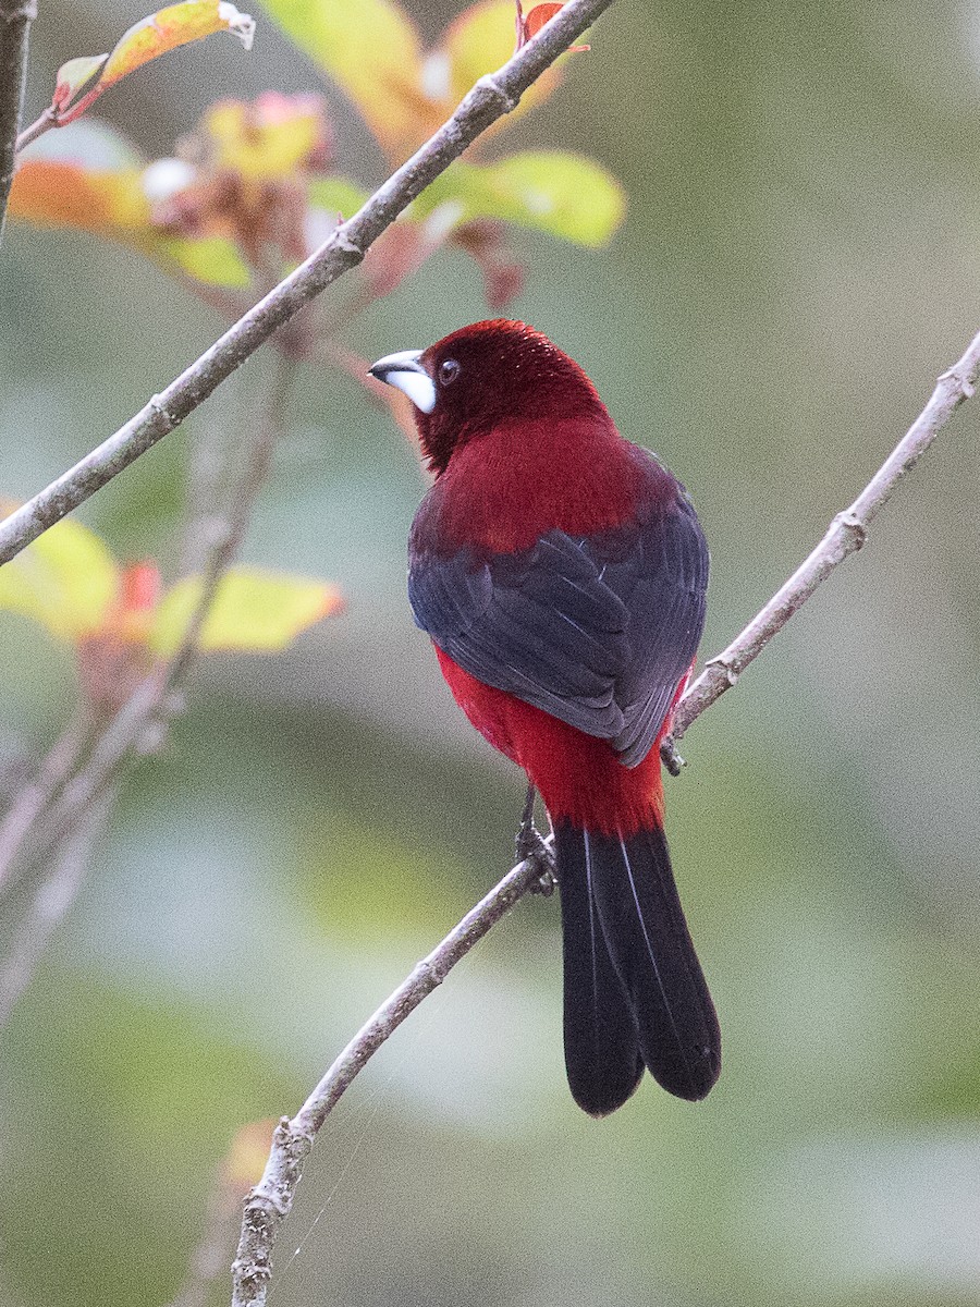
[[[350,95],[392,153],[438,124],[422,91],[418,33],[395,0],[261,0],[286,35]]]

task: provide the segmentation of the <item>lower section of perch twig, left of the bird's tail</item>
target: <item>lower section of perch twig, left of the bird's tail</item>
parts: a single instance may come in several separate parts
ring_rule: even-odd
[[[540,881],[541,870],[538,857],[529,857],[508,872],[361,1027],[293,1120],[284,1116],[278,1123],[263,1178],[246,1202],[238,1255],[231,1268],[233,1307],[263,1307],[265,1303],[276,1235],[293,1206],[303,1159],[333,1104],[405,1017]]]

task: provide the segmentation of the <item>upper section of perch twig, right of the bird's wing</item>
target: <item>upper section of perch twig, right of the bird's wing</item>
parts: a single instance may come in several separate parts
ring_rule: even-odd
[[[830,576],[835,567],[856,553],[868,538],[868,527],[889,502],[902,477],[916,465],[939,431],[970,399],[980,378],[980,333],[967,346],[963,357],[936,383],[929,403],[882,463],[849,508],[839,512],[823,540],[797,567],[789,580],[772,596],[762,612],[741,634],[715,657],[708,659],[698,680],[689,686],[674,712],[673,740],[679,740],[690,724],[730,690],[745,668],[758,657],[772,637]],[[672,740],[664,741],[664,761],[670,765]]]

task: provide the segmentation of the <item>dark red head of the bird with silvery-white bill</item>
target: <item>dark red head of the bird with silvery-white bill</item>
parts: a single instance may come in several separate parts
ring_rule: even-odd
[[[524,323],[463,327],[429,349],[379,358],[371,375],[414,404],[422,450],[436,476],[456,448],[504,423],[605,414],[579,365]]]

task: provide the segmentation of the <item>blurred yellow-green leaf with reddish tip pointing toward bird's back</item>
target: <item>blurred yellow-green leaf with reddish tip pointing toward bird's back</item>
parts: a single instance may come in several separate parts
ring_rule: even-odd
[[[201,584],[200,576],[189,576],[163,596],[149,640],[157,654],[169,656],[179,646],[200,603]],[[282,650],[307,627],[338,612],[342,604],[340,591],[328,582],[237,567],[221,583],[200,647]]]

